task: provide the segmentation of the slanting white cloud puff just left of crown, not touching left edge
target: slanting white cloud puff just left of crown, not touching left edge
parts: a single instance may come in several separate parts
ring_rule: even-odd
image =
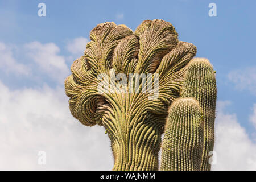
[[[63,83],[64,78],[69,74],[69,69],[64,57],[58,54],[60,48],[56,44],[31,42],[24,47],[26,54],[39,65],[41,71],[48,73],[53,80]]]

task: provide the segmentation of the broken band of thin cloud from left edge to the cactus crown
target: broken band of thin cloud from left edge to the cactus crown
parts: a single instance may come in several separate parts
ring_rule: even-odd
[[[63,85],[65,77],[70,73],[65,62],[81,56],[87,42],[82,37],[68,42],[67,48],[73,54],[70,57],[60,55],[60,48],[55,43],[30,42],[17,46],[0,42],[0,69],[4,73],[30,76],[37,80],[47,75]]]

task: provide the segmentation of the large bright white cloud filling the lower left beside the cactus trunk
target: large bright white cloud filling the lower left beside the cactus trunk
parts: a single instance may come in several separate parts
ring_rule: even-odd
[[[112,169],[105,130],[72,117],[64,88],[10,90],[0,81],[0,90],[1,170]],[[46,151],[46,165],[38,151]]]

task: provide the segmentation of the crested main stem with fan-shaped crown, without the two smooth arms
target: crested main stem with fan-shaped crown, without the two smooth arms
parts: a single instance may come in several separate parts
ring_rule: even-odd
[[[105,127],[113,151],[114,170],[157,170],[168,108],[180,97],[181,88],[185,89],[184,76],[196,47],[179,42],[172,24],[159,19],[143,21],[134,32],[124,25],[101,23],[90,32],[90,40],[65,80],[71,114],[83,125]],[[134,73],[134,77],[122,85],[121,79],[117,79],[121,73],[127,77]],[[146,88],[150,86],[148,77],[137,74],[152,75],[149,79],[152,92],[145,92],[148,90],[143,87],[143,84]],[[114,86],[118,89],[113,90]],[[133,92],[127,92],[130,88]],[[158,95],[150,99],[153,93]],[[201,104],[200,96],[193,93],[191,97],[199,98]],[[214,110],[213,105],[211,109]],[[197,111],[192,113],[197,119]]]

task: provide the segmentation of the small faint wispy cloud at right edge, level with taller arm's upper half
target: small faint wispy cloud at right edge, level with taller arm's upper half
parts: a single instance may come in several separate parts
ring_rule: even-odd
[[[228,74],[238,90],[249,90],[256,94],[256,67],[232,71]]]

